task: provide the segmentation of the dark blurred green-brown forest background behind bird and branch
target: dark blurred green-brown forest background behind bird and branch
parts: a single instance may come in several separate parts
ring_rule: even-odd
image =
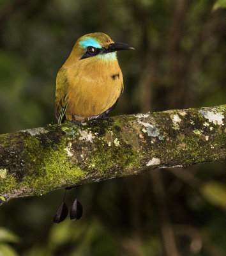
[[[0,133],[56,124],[57,70],[93,32],[136,49],[117,54],[124,93],[112,115],[225,103],[226,12],[214,3],[0,0]],[[11,200],[0,207],[0,255],[223,256],[225,181],[225,164],[205,163],[87,184],[84,216],[59,225],[63,189]]]

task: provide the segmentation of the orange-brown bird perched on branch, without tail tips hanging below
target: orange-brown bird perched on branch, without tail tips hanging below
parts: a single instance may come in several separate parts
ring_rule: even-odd
[[[81,36],[57,72],[55,115],[75,122],[105,118],[123,93],[117,51],[134,49],[114,43],[105,33]]]

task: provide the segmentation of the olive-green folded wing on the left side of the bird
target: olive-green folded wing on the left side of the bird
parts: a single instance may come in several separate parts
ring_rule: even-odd
[[[55,115],[58,124],[61,124],[68,106],[68,77],[66,68],[60,68],[56,79]]]

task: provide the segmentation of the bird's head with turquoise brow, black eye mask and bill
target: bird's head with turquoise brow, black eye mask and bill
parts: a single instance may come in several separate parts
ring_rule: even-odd
[[[71,55],[77,60],[97,58],[105,61],[116,60],[116,52],[134,49],[128,44],[114,43],[110,36],[104,33],[91,33],[77,40]]]

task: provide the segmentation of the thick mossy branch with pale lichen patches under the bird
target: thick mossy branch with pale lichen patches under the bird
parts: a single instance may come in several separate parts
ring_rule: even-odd
[[[226,105],[92,120],[0,135],[1,200],[225,160]],[[3,201],[2,201],[3,202]]]

